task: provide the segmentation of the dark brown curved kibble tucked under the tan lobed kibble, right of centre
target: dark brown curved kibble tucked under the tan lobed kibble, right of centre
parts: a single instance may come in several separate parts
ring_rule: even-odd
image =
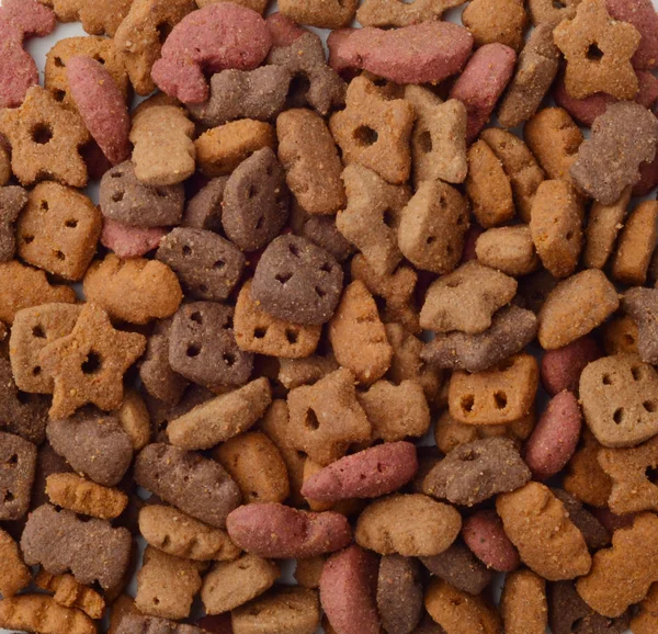
[[[536,333],[535,314],[511,305],[494,315],[491,327],[479,335],[436,333],[421,358],[435,367],[481,372],[521,352]]]

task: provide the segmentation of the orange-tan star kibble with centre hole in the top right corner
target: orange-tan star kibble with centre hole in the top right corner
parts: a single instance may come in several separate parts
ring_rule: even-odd
[[[632,24],[613,20],[603,0],[583,0],[572,20],[563,20],[553,39],[567,59],[565,86],[575,99],[605,92],[620,100],[637,94],[631,58],[640,35]]]

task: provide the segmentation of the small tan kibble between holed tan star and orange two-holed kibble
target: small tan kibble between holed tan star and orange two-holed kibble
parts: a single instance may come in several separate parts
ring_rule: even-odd
[[[417,381],[406,380],[399,385],[377,381],[367,392],[360,392],[358,398],[373,426],[373,440],[420,438],[430,428],[430,409]]]

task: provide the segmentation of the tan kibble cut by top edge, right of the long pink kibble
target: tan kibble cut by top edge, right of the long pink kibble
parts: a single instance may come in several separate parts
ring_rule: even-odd
[[[500,42],[519,52],[527,18],[521,0],[473,0],[462,13],[476,46]]]

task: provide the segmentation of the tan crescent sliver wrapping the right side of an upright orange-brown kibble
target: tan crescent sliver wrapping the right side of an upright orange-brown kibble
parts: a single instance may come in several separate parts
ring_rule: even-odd
[[[491,148],[510,179],[519,216],[530,222],[532,202],[537,188],[544,181],[544,170],[517,135],[498,127],[488,127],[480,138]]]

